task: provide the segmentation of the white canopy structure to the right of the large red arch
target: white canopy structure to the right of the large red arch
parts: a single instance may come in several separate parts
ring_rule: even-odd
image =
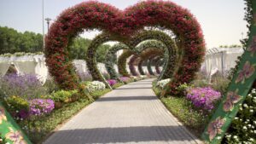
[[[207,49],[205,61],[202,63],[201,72],[207,74],[208,78],[217,72],[223,76],[236,66],[238,56],[243,54],[242,48],[213,48]]]

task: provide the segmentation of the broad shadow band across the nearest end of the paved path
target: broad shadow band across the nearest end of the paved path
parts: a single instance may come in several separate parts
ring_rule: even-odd
[[[116,143],[116,142],[147,142],[147,141],[192,141],[188,135],[180,135],[180,126],[150,126],[150,127],[123,127],[123,128],[96,128],[84,130],[58,131],[55,137],[61,137],[61,143]],[[73,135],[69,137],[67,135]],[[63,143],[63,141],[65,141]]]

